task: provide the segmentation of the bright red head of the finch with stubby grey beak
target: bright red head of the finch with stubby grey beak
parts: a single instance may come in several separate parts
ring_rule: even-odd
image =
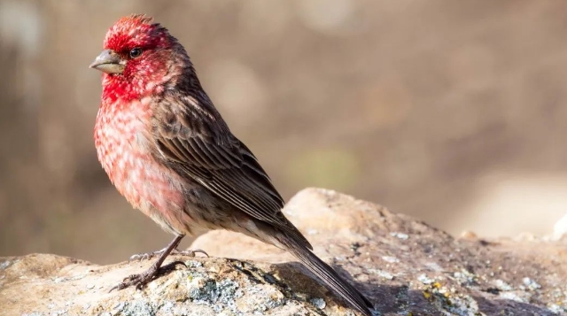
[[[134,14],[106,33],[104,50],[90,65],[103,75],[103,98],[139,99],[159,93],[192,66],[183,46],[167,28]]]

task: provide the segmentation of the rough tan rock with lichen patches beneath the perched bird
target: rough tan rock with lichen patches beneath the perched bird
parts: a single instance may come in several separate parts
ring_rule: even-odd
[[[315,252],[376,302],[379,315],[563,315],[567,240],[455,239],[408,216],[324,189],[284,212]],[[191,246],[214,258],[171,257],[145,289],[108,292],[152,261],[96,266],[33,254],[0,258],[0,315],[353,315],[290,255],[214,231]]]

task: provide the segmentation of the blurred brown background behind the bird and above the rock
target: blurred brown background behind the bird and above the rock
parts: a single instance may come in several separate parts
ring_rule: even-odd
[[[179,38],[286,200],[336,189],[453,235],[545,235],[567,211],[564,1],[1,0],[0,256],[172,239],[92,139],[88,66],[132,12]]]

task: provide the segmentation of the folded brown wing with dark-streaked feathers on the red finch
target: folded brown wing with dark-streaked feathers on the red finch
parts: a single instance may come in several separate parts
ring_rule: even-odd
[[[281,209],[283,198],[244,143],[212,106],[190,96],[163,98],[154,111],[153,135],[170,163],[215,196],[257,220],[291,233],[311,248]]]

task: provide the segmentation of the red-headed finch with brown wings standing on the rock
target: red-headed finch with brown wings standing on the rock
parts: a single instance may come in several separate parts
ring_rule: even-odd
[[[229,229],[290,251],[364,315],[372,304],[317,258],[283,216],[283,199],[252,152],[232,135],[201,88],[183,46],[144,15],[122,18],[90,65],[103,72],[95,125],[98,160],[130,204],[175,235],[143,274],[116,288],[141,288],[159,274],[184,235]]]

